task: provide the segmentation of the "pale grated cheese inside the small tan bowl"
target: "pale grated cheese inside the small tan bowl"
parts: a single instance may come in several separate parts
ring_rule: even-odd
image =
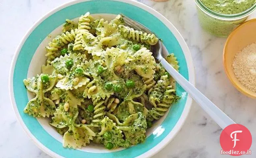
[[[239,82],[256,92],[256,43],[246,46],[235,55],[232,68]]]

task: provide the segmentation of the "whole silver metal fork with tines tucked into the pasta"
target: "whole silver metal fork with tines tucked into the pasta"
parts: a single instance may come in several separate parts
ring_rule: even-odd
[[[138,31],[146,33],[152,33],[144,25],[122,15],[124,22],[128,27],[132,27]],[[202,94],[194,85],[192,85],[186,78],[184,78],[178,71],[176,71],[164,58],[162,54],[162,42],[158,40],[157,44],[151,47],[153,56],[161,63],[169,74],[182,86],[186,92],[198,103],[206,113],[208,113],[212,119],[224,129],[228,125],[235,124],[235,122],[229,118],[221,109],[219,109],[213,102],[211,102],[204,94]]]

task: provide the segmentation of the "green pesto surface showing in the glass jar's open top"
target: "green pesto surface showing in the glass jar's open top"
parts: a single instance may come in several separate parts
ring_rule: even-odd
[[[201,0],[214,12],[221,14],[238,14],[251,8],[256,0]]]

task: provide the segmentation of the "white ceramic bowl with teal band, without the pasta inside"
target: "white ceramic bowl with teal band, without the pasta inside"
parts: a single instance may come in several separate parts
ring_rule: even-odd
[[[91,12],[92,16],[105,19],[111,19],[115,14],[122,13],[151,29],[163,40],[164,51],[174,53],[177,57],[180,73],[194,84],[194,67],[188,46],[177,29],[157,11],[132,0],[75,0],[43,16],[21,41],[12,61],[9,78],[10,98],[14,112],[29,137],[41,150],[52,157],[147,158],[152,156],[178,133],[190,110],[192,99],[178,84],[176,91],[182,98],[147,131],[145,143],[128,149],[105,150],[103,146],[93,143],[79,150],[63,148],[62,136],[49,125],[47,119],[35,119],[23,113],[28,99],[33,97],[25,89],[23,79],[41,73],[41,65],[46,59],[45,46],[61,33],[65,19],[77,20],[77,17],[87,11]]]

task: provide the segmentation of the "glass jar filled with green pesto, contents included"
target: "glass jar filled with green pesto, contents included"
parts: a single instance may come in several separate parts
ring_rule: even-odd
[[[227,37],[256,9],[256,0],[194,1],[201,27],[218,37]]]

